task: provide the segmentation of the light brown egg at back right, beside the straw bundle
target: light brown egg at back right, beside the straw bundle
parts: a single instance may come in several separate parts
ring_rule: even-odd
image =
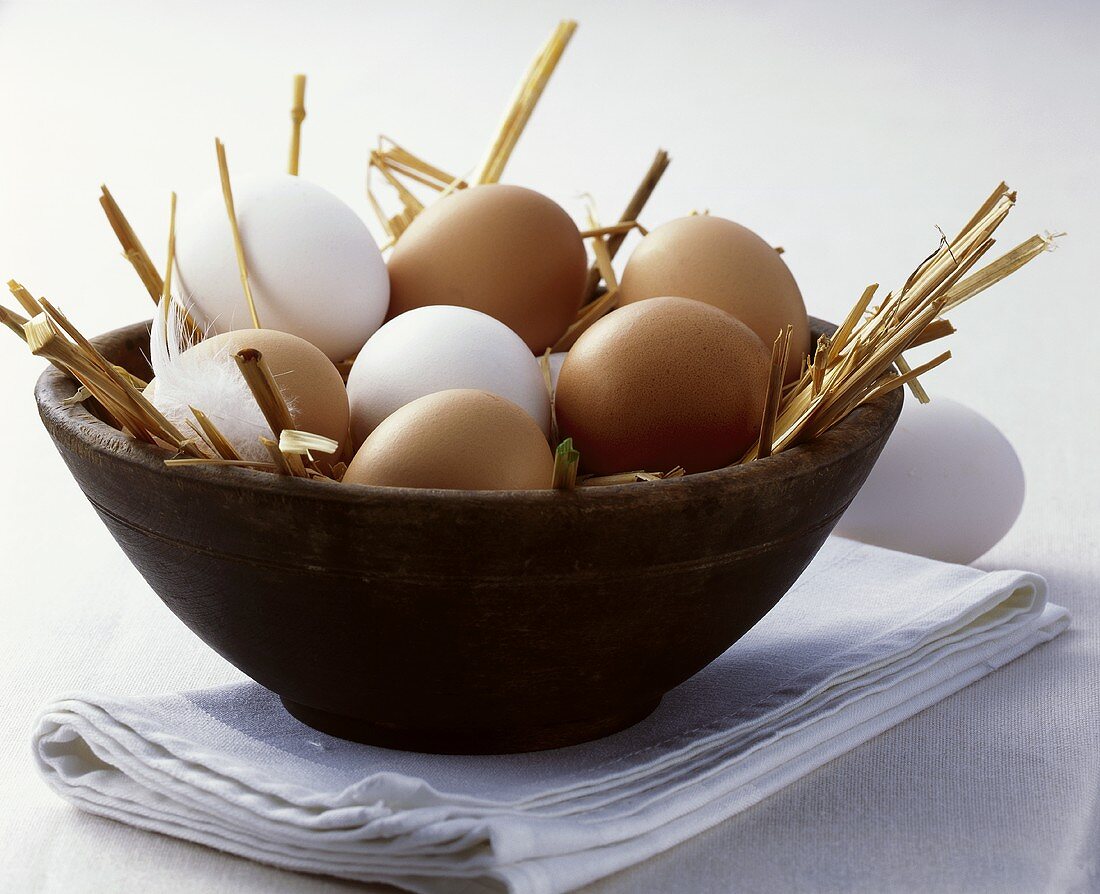
[[[769,351],[792,324],[788,380],[810,353],[806,306],[790,269],[771,245],[732,220],[694,214],[658,227],[634,250],[620,286],[620,305],[678,295],[727,310]]]

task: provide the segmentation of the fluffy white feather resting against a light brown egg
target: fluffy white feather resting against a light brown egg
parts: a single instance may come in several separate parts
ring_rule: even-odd
[[[270,461],[258,439],[272,438],[272,430],[237,362],[228,347],[188,350],[196,341],[179,302],[169,299],[150,333],[154,406],[185,432],[198,427],[190,409],[196,407],[210,417],[242,459]]]

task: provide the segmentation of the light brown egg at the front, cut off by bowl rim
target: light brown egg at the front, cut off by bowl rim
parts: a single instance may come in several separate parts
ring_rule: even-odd
[[[553,454],[538,423],[488,391],[455,388],[387,416],[348,466],[345,484],[447,490],[538,490]]]

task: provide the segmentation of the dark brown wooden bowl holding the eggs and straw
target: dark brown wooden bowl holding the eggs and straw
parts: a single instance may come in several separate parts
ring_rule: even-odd
[[[96,343],[148,375],[147,323]],[[794,583],[902,404],[897,389],[741,467],[458,492],[168,468],[165,451],[64,406],[74,391],[43,373],[43,422],[184,623],[317,729],[457,753],[574,744],[648,715]]]

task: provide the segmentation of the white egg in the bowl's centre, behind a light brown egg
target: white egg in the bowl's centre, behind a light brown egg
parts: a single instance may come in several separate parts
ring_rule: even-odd
[[[542,369],[524,340],[479,310],[432,305],[395,317],[360,351],[348,377],[355,442],[406,404],[452,388],[504,397],[550,430]]]

